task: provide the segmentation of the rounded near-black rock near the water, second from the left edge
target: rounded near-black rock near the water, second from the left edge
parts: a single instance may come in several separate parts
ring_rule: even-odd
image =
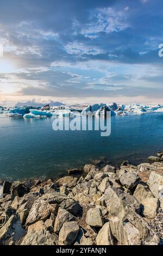
[[[14,181],[11,185],[10,192],[14,196],[23,197],[24,194],[29,192],[29,188],[20,181]]]

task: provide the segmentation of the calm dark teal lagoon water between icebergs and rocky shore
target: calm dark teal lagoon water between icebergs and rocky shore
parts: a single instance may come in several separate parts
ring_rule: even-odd
[[[0,115],[0,178],[57,176],[103,156],[112,163],[139,163],[163,148],[163,113],[114,116],[109,137],[100,131],[54,131],[53,120]]]

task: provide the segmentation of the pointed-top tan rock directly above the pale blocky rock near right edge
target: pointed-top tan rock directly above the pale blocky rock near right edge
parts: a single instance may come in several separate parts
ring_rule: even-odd
[[[134,194],[133,196],[139,200],[139,202],[142,202],[143,199],[146,199],[146,198],[153,198],[153,194],[152,192],[148,189],[147,186],[145,185],[142,185],[142,184],[138,184],[135,191],[134,191]]]

